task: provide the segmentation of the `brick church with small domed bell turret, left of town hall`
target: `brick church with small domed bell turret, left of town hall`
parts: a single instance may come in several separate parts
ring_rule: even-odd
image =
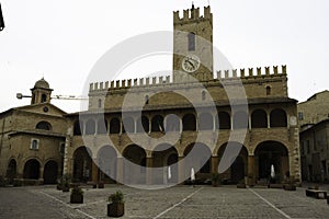
[[[35,83],[31,105],[0,114],[0,175],[34,183],[56,183],[63,170],[67,123],[50,104],[49,84]]]

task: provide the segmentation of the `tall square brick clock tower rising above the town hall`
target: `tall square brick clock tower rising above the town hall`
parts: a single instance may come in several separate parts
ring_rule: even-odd
[[[180,72],[184,72],[183,74]],[[213,79],[213,14],[211,7],[173,12],[173,81],[189,80],[192,76],[198,81]]]

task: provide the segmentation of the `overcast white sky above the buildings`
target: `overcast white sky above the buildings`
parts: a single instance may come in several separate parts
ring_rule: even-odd
[[[172,31],[172,11],[191,0],[0,0],[5,28],[0,32],[0,112],[30,104],[30,94],[45,78],[53,94],[81,95],[99,58],[122,41],[155,31]],[[290,97],[299,102],[328,89],[329,1],[194,0],[212,7],[214,46],[235,68],[287,65]],[[170,38],[171,41],[171,38]],[[135,65],[135,73],[170,70],[171,58]],[[143,61],[140,61],[143,64]],[[160,62],[160,64],[159,64]],[[148,64],[154,64],[148,61]],[[109,76],[111,79],[111,76]],[[66,112],[78,101],[53,104]]]

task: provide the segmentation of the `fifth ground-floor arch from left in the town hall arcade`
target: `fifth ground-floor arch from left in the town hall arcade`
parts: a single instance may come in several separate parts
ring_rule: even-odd
[[[191,176],[192,168],[195,171],[195,178],[205,181],[211,176],[211,149],[203,143],[191,143],[184,150],[184,176]]]

